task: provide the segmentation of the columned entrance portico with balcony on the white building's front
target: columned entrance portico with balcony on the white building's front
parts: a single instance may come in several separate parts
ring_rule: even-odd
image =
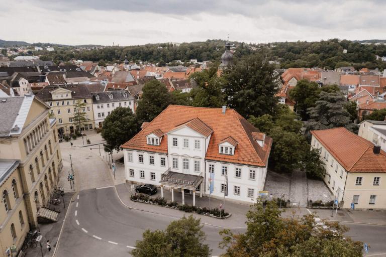
[[[201,173],[202,174],[202,173]],[[183,174],[179,172],[172,172],[168,169],[161,175],[161,197],[163,197],[163,187],[170,187],[171,201],[174,201],[174,189],[181,189],[182,191],[182,204],[185,204],[185,192],[189,190],[193,193],[193,206],[196,205],[196,191],[200,187],[200,197],[203,196],[203,186],[200,186],[204,181],[204,178],[200,175]]]

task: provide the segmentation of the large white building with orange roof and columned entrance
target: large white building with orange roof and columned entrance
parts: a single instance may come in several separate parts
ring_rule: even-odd
[[[234,109],[169,105],[124,149],[126,181],[163,191],[255,202],[264,189],[272,139]],[[182,194],[183,196],[184,194]],[[182,199],[184,199],[182,197]]]

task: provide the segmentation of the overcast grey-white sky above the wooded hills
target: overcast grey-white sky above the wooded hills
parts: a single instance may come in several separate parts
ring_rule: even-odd
[[[386,1],[0,0],[0,39],[141,45],[386,39]]]

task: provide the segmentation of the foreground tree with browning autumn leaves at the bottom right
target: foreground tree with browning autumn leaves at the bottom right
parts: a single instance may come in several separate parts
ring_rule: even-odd
[[[253,205],[246,214],[245,233],[228,229],[220,234],[225,248],[223,257],[359,257],[362,242],[353,241],[344,233],[347,228],[338,223],[326,223],[326,228],[316,224],[314,215],[283,218],[275,201]]]

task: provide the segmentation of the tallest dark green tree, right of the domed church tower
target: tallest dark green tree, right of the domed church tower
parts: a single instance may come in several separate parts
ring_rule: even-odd
[[[277,104],[274,66],[261,55],[247,56],[223,74],[225,100],[242,116],[272,114]]]

